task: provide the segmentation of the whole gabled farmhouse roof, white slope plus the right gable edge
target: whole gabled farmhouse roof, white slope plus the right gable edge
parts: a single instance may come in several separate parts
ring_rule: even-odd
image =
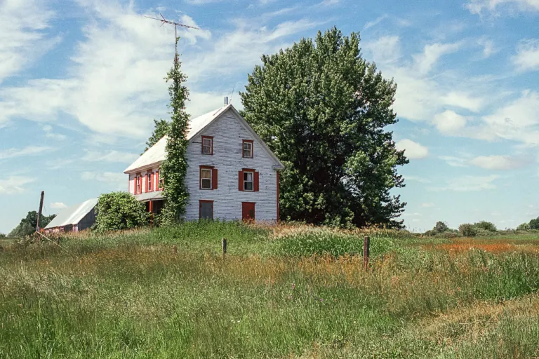
[[[234,114],[239,118],[239,121],[243,123],[245,128],[251,133],[251,135],[262,144],[262,147],[267,151],[268,154],[273,158],[276,165],[274,168],[276,169],[283,169],[284,165],[279,161],[279,158],[274,155],[274,153],[270,150],[269,147],[262,141],[262,139],[255,133],[253,128],[248,125],[248,123],[244,120],[243,117],[239,114],[237,109],[232,106],[232,104],[227,104],[223,107],[220,107],[218,109],[214,109],[213,111],[209,111],[207,114],[198,116],[197,118],[192,118],[192,120],[189,120],[189,132],[187,133],[187,140],[191,142],[199,133],[201,133],[205,128],[210,126],[213,121],[217,120],[222,114],[225,114],[227,110],[232,110]],[[124,173],[134,172],[135,170],[139,170],[142,168],[146,168],[150,165],[154,165],[155,163],[161,163],[165,160],[165,147],[166,147],[166,141],[167,136],[164,136],[161,138],[161,140],[157,141],[156,144],[154,144],[152,147],[147,149],[142,156],[137,158],[135,162],[131,163],[131,165],[124,170]]]

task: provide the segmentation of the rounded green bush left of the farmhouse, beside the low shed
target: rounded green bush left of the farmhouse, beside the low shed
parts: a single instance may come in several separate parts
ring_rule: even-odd
[[[149,223],[149,213],[144,203],[140,203],[127,192],[102,194],[95,206],[96,231],[114,231],[145,226]]]

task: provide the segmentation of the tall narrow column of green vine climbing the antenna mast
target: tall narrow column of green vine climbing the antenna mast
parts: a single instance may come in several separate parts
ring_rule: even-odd
[[[178,39],[176,39],[176,46]],[[161,175],[164,179],[165,208],[161,213],[163,224],[178,222],[185,213],[185,205],[189,200],[189,193],[185,185],[187,174],[187,131],[189,130],[189,115],[185,111],[185,102],[189,98],[189,90],[183,85],[187,76],[180,70],[181,62],[178,53],[175,53],[174,64],[166,76],[170,81],[168,93],[171,96],[171,118],[166,142],[166,159],[161,165]]]

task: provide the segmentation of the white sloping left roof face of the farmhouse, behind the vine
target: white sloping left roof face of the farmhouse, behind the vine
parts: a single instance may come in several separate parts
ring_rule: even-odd
[[[229,109],[229,107],[232,107],[232,104],[227,104],[219,109],[214,109],[207,114],[189,120],[189,132],[187,133],[187,140],[191,140],[195,135],[197,135],[197,133],[215,120],[215,118],[218,118],[220,114]],[[167,137],[165,136],[161,138],[161,140],[157,141],[157,143],[145,151],[142,156],[137,158],[135,162],[131,163],[131,165],[124,170],[124,173],[138,170],[139,168],[145,168],[148,165],[153,165],[154,163],[164,161],[166,140]]]

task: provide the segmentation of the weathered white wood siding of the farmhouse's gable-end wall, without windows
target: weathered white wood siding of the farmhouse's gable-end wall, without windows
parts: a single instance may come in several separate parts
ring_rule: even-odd
[[[202,135],[213,136],[213,155],[202,154]],[[242,140],[254,140],[253,158],[242,157]],[[275,163],[232,111],[227,111],[192,140],[187,147],[187,163],[187,219],[199,219],[201,200],[213,201],[214,219],[241,219],[242,202],[256,203],[257,221],[277,219],[277,172],[272,168]],[[218,189],[200,189],[200,165],[215,166]],[[238,172],[242,168],[253,168],[260,173],[258,192],[239,191]]]

